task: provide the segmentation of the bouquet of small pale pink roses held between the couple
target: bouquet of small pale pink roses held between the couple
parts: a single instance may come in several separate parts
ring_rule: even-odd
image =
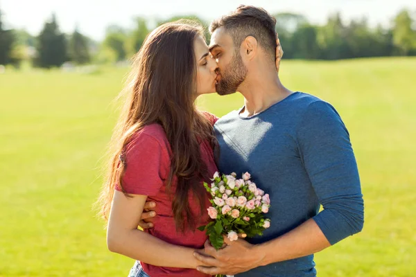
[[[198,228],[207,231],[211,245],[217,250],[223,247],[223,235],[229,240],[237,240],[238,233],[245,233],[248,238],[263,235],[270,227],[270,220],[264,217],[270,208],[270,197],[250,181],[250,173],[236,179],[234,172],[222,176],[215,172],[211,181],[211,185],[204,186],[212,195],[212,206],[207,210],[214,221]]]

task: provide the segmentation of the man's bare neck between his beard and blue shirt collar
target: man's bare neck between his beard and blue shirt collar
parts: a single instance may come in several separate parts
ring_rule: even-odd
[[[251,76],[239,91],[244,96],[244,108],[240,112],[244,117],[259,114],[293,93],[281,84],[275,72]]]

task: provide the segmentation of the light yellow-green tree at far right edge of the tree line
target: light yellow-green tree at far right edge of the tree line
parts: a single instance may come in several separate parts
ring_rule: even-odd
[[[394,22],[393,43],[400,55],[408,55],[413,48],[416,48],[416,30],[412,29],[413,19],[407,10],[402,10]]]

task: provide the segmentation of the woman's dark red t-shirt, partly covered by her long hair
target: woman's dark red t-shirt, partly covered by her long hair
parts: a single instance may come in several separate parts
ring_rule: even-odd
[[[218,119],[214,115],[205,114],[214,124]],[[218,171],[214,161],[214,152],[207,141],[200,144],[201,158],[205,161],[209,176],[213,176]],[[207,240],[205,232],[186,231],[185,233],[177,232],[175,229],[175,220],[172,212],[172,201],[166,192],[166,181],[170,170],[171,147],[166,138],[166,134],[161,125],[147,125],[132,137],[132,140],[125,148],[125,175],[123,177],[123,188],[126,193],[134,195],[147,195],[148,200],[156,202],[156,217],[153,229],[145,230],[146,233],[155,236],[171,244],[182,245],[184,247],[193,247],[202,249]],[[209,181],[209,180],[204,180]],[[173,180],[172,189],[175,191],[177,179]],[[202,186],[202,180],[201,180]],[[121,190],[116,186],[116,190]],[[194,201],[192,193],[189,193],[189,203],[191,211],[199,215],[200,206]],[[209,196],[206,199],[205,206],[211,206]],[[197,226],[205,225],[209,222],[207,213],[198,217],[200,222]],[[144,246],[146,247],[146,246]],[[207,276],[196,269],[182,269],[172,267],[156,267],[141,262],[144,271],[151,277],[165,276]]]

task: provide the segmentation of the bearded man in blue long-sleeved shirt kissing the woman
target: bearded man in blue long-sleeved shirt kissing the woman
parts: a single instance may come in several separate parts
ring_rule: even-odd
[[[336,110],[281,84],[275,24],[266,10],[240,6],[210,26],[221,95],[239,91],[244,107],[217,121],[220,172],[250,172],[270,195],[263,236],[209,243],[195,253],[206,274],[316,276],[313,253],[363,228],[363,197],[349,134]],[[319,212],[320,204],[323,210]]]

